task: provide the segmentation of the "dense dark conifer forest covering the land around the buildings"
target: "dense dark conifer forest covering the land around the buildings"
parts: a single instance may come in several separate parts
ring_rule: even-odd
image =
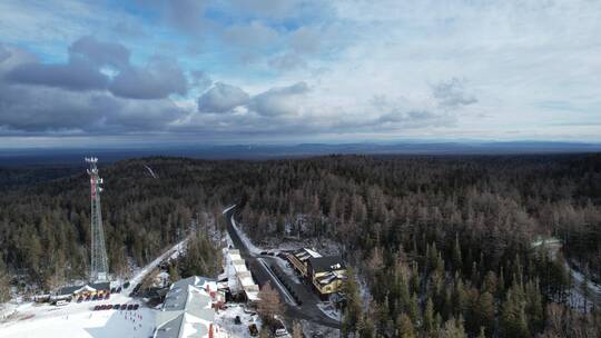
[[[3,170],[0,177],[27,180],[2,186],[0,269],[11,278],[0,289],[85,278],[85,167],[45,179]],[[194,231],[203,212],[224,222],[224,206],[237,203],[254,240],[339,243],[356,272],[346,285],[345,336],[600,335],[598,299],[585,287],[601,279],[599,153],[145,158],[100,167],[100,175],[116,275]],[[541,238],[559,239],[562,249],[533,247]],[[585,276],[582,286],[566,264]]]

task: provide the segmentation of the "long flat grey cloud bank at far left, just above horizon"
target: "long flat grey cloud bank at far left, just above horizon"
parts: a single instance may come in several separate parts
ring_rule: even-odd
[[[184,113],[169,100],[127,100],[107,92],[0,83],[0,126],[22,132],[156,131]]]

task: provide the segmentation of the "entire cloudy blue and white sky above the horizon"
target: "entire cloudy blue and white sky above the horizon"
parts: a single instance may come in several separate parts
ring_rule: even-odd
[[[0,148],[601,141],[594,0],[2,0]]]

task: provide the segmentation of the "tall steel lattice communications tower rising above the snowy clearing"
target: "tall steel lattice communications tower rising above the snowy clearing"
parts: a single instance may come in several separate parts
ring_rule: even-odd
[[[100,208],[100,192],[102,192],[102,179],[98,176],[96,163],[98,158],[86,158],[90,165],[90,202],[91,202],[91,265],[90,281],[108,281],[108,259],[105,246],[105,231],[102,229],[102,210]]]

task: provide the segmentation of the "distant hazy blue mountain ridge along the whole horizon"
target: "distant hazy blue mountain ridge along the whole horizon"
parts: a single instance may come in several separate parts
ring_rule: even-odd
[[[396,143],[298,143],[224,146],[148,146],[146,148],[57,148],[0,149],[0,166],[79,163],[95,155],[104,162],[132,157],[169,156],[199,159],[276,159],[323,155],[520,155],[600,152],[601,143],[511,141],[511,142],[396,142]]]

